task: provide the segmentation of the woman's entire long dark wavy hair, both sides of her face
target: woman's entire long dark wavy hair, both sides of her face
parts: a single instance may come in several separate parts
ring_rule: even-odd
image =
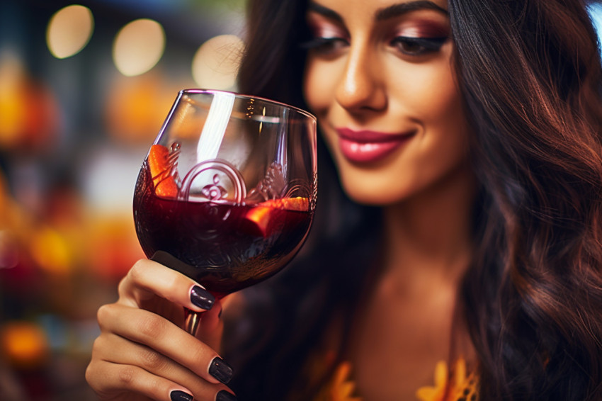
[[[306,6],[251,1],[241,91],[305,107]],[[602,399],[596,33],[580,0],[449,0],[449,9],[480,182],[476,252],[461,294],[481,399]],[[377,210],[343,196],[323,144],[319,153],[307,246],[293,266],[246,291],[245,315],[228,331],[242,399],[286,398],[331,315],[351,321],[375,253]]]

